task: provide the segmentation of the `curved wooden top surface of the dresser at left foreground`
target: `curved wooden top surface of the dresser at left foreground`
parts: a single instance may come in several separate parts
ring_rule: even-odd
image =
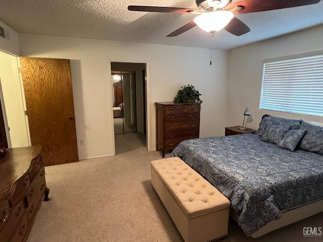
[[[21,148],[10,148],[6,155],[0,157],[0,198],[5,199],[11,192],[12,185],[23,174],[25,174],[31,161],[39,156],[42,147],[29,146]]]

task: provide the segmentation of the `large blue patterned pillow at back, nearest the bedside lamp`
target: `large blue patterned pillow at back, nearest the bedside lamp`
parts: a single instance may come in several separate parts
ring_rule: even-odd
[[[301,121],[301,119],[289,119],[265,114],[262,116],[261,122],[259,124],[259,129],[256,131],[255,134],[262,136],[264,129],[267,125],[289,126],[290,129],[297,130],[301,124]]]

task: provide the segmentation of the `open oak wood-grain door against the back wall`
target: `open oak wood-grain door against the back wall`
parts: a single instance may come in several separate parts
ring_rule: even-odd
[[[78,161],[70,60],[19,59],[31,145],[45,165]]]

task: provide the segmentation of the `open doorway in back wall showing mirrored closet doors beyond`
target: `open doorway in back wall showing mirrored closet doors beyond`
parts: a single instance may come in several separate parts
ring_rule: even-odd
[[[147,149],[146,64],[112,62],[111,85],[116,154],[120,141],[133,136]]]

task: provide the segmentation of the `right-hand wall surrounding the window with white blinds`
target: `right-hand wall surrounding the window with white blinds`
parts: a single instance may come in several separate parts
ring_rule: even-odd
[[[323,25],[231,50],[226,126],[242,125],[243,112],[247,106],[251,112],[247,127],[253,129],[258,129],[265,113],[322,123],[322,117],[259,110],[262,61],[317,50],[323,50]]]

